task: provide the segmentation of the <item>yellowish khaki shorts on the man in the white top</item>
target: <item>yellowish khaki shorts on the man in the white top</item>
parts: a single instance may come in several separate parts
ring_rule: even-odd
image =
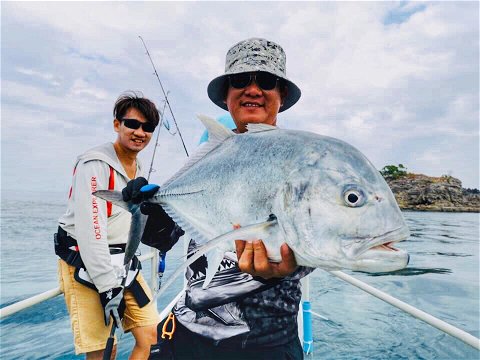
[[[73,330],[75,354],[102,350],[110,335],[110,326],[105,326],[103,307],[98,292],[80,284],[74,279],[75,268],[65,261],[58,261],[58,278],[60,290],[65,296],[70,322]],[[152,293],[142,274],[137,276],[145,293],[152,298]],[[133,294],[126,290],[125,314],[122,326],[125,332],[141,327],[156,325],[160,321],[158,311],[153,302],[139,308]]]

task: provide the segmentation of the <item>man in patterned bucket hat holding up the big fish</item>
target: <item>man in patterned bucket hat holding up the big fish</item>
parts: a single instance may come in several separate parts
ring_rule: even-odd
[[[208,96],[230,112],[233,131],[243,133],[249,123],[276,125],[277,114],[299,100],[285,64],[285,52],[272,41],[251,38],[230,48],[225,73],[210,82]],[[192,239],[188,253],[196,248]],[[286,244],[278,264],[268,261],[261,240],[238,240],[236,249],[225,254],[207,289],[202,288],[206,258],[187,269],[186,292],[173,316],[160,323],[150,359],[303,358],[297,332],[300,279],[313,269],[298,267]],[[172,328],[172,340],[161,339]]]

